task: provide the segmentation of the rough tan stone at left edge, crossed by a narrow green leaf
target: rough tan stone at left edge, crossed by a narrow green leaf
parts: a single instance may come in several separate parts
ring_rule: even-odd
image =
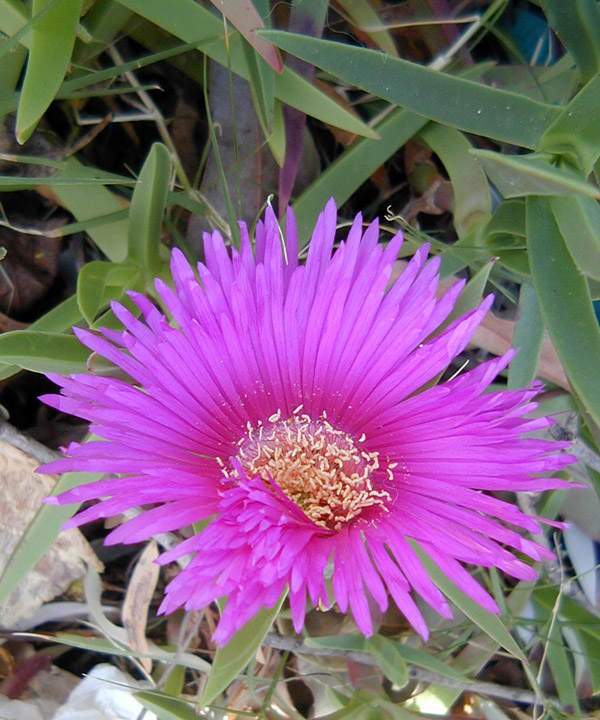
[[[42,499],[55,483],[55,477],[37,475],[39,463],[21,450],[0,441],[0,572],[4,569]],[[89,564],[103,570],[87,540],[79,530],[61,533],[31,572],[0,606],[0,625],[14,626],[31,617],[45,602],[67,590],[85,574]]]

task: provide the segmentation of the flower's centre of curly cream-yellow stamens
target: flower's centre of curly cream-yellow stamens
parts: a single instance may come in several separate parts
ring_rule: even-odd
[[[271,479],[316,525],[340,530],[344,523],[373,505],[387,510],[387,492],[373,488],[379,453],[365,452],[325,414],[318,420],[300,415],[287,420],[281,412],[248,433],[238,443],[238,460],[248,477]],[[388,476],[392,472],[388,468]]]

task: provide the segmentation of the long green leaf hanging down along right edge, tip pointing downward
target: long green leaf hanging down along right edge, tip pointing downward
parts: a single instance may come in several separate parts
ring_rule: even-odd
[[[542,317],[569,383],[596,424],[600,423],[600,328],[585,278],[575,266],[550,202],[527,198],[531,276]]]

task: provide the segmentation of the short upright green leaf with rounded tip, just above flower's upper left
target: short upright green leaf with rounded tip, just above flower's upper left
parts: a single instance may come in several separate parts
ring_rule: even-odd
[[[169,151],[154,143],[133,191],[128,231],[128,257],[148,277],[155,277],[160,268],[158,249],[171,173]]]

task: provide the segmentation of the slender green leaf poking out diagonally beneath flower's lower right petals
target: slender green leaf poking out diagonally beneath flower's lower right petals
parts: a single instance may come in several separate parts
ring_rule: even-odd
[[[411,543],[415,552],[427,570],[427,574],[438,588],[456,605],[456,607],[470,618],[475,625],[486,635],[493,638],[511,655],[527,664],[527,659],[521,648],[506,628],[506,625],[497,616],[481,607],[475,600],[465,595],[433,562],[433,560],[415,543]]]

